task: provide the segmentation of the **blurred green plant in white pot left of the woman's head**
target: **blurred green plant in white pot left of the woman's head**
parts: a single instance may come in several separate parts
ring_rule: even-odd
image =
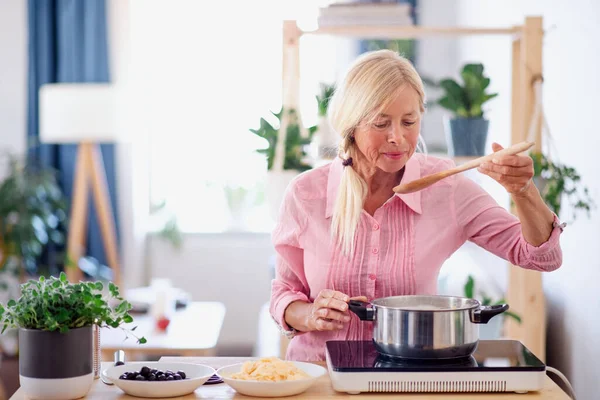
[[[283,169],[274,170],[275,148],[279,140],[279,130],[283,113],[288,113],[288,125],[285,135]],[[283,194],[287,185],[300,172],[312,168],[308,163],[308,154],[306,148],[310,145],[313,135],[317,130],[312,126],[306,130],[306,136],[302,135],[298,114],[294,109],[281,109],[278,113],[273,113],[278,120],[276,125],[272,125],[264,118],[260,119],[258,129],[250,129],[250,132],[265,139],[267,147],[257,150],[267,158],[267,186],[266,199],[269,205],[271,217],[276,219],[279,213],[279,206],[283,199]]]

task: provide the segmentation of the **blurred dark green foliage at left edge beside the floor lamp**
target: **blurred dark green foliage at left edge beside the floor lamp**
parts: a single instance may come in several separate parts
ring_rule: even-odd
[[[67,201],[54,170],[9,159],[0,183],[0,269],[37,273],[45,267],[39,265],[44,248],[64,244]]]

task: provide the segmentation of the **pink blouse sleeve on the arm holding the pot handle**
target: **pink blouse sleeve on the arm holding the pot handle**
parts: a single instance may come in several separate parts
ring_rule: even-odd
[[[285,310],[294,301],[309,301],[309,289],[304,273],[304,250],[300,236],[306,229],[306,213],[297,195],[296,181],[286,190],[272,241],[277,253],[276,276],[271,284],[270,312],[275,322],[286,331]]]

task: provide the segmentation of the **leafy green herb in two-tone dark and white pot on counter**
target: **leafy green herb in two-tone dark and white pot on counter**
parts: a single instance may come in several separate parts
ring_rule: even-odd
[[[118,287],[109,283],[109,294],[103,290],[102,282],[70,283],[61,272],[58,278],[22,284],[17,300],[0,304],[3,331],[19,330],[19,380],[28,398],[67,400],[88,393],[94,380],[94,325],[119,328],[133,321],[131,304]]]

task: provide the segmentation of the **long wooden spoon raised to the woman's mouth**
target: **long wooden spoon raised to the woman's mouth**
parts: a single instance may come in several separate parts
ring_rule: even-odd
[[[428,186],[433,185],[437,181],[440,181],[444,178],[456,175],[460,172],[468,171],[473,168],[477,168],[482,163],[492,161],[492,159],[496,157],[513,156],[523,151],[529,150],[533,147],[534,144],[534,142],[520,142],[514,144],[510,147],[507,147],[506,149],[502,149],[495,153],[488,154],[487,156],[476,158],[462,165],[459,165],[458,167],[454,167],[446,171],[437,172],[435,174],[425,176],[412,182],[401,183],[400,185],[394,188],[394,192],[401,194],[417,192],[419,190],[425,189]]]

